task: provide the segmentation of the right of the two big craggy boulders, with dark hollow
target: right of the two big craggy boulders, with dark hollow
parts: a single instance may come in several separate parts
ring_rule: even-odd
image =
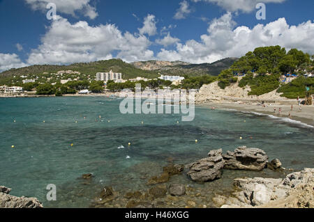
[[[267,164],[268,157],[264,150],[241,146],[234,152],[228,151],[227,154],[223,154],[223,159],[225,160],[225,169],[262,171]]]

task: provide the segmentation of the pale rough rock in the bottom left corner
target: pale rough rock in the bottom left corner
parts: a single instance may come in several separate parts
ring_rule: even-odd
[[[0,208],[43,208],[37,198],[11,196],[11,189],[0,187]]]

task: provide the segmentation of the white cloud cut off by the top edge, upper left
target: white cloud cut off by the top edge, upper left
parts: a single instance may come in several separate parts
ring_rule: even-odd
[[[94,19],[98,16],[96,8],[90,5],[91,0],[25,0],[33,10],[42,10],[47,12],[46,6],[48,3],[55,3],[57,6],[57,14],[65,13],[75,15],[75,12],[82,13],[85,17]]]

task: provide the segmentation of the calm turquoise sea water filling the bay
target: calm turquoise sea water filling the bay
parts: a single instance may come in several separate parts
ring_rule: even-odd
[[[37,197],[46,207],[89,207],[103,186],[145,189],[147,180],[140,177],[157,175],[167,159],[188,164],[217,148],[246,145],[265,150],[285,168],[314,167],[311,127],[202,106],[192,122],[181,122],[179,114],[122,115],[120,102],[106,97],[0,99],[0,185],[16,196]],[[77,179],[83,173],[95,175],[92,184]],[[230,180],[220,180],[232,186],[232,175],[224,175]],[[57,201],[47,202],[47,184],[56,184]]]

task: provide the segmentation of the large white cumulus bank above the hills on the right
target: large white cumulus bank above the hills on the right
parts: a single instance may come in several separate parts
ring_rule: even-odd
[[[170,61],[211,63],[221,58],[243,56],[256,47],[269,45],[281,45],[288,50],[297,48],[314,54],[314,21],[289,26],[285,18],[279,18],[266,25],[257,24],[253,29],[235,25],[232,14],[226,13],[209,24],[208,33],[201,35],[200,41],[177,43],[176,50],[162,49],[157,57]]]

